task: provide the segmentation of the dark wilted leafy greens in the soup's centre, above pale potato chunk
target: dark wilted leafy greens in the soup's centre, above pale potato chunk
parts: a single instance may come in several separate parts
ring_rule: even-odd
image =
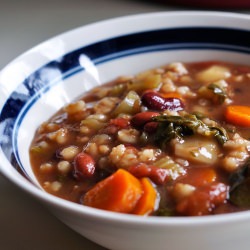
[[[208,126],[196,115],[159,115],[152,120],[158,122],[154,140],[163,148],[174,138],[182,139],[184,136],[194,134],[213,136],[221,145],[228,140],[227,133],[222,127]]]

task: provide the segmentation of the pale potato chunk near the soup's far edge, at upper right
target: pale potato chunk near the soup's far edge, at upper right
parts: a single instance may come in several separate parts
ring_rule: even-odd
[[[196,74],[196,79],[200,82],[215,82],[230,76],[231,73],[227,67],[214,65]]]

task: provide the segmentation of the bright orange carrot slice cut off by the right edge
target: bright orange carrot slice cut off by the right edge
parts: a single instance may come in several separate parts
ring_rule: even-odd
[[[234,125],[250,127],[250,107],[249,106],[227,106],[225,111],[226,120]]]

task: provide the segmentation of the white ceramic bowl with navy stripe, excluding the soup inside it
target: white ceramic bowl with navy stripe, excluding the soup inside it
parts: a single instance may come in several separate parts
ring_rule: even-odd
[[[249,249],[250,211],[162,218],[85,207],[45,193],[28,154],[38,125],[85,90],[174,61],[249,65],[249,41],[248,15],[162,12],[87,25],[42,43],[0,75],[0,172],[69,227],[109,249]]]

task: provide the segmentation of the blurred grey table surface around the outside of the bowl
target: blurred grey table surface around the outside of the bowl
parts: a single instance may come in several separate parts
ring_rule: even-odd
[[[183,9],[143,0],[0,0],[0,69],[34,45],[84,24],[128,14]],[[105,248],[69,229],[0,175],[0,249]]]

